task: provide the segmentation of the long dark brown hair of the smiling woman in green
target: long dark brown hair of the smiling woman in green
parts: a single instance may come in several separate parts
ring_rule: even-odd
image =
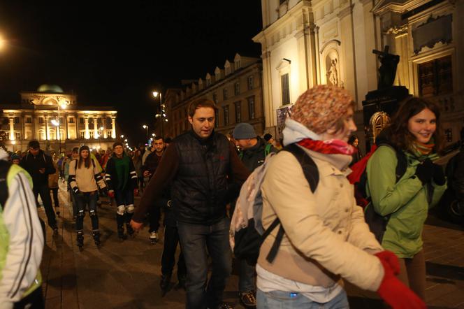
[[[389,135],[389,139],[393,145],[396,145],[396,147],[402,150],[409,150],[411,148],[415,138],[407,128],[409,119],[421,113],[421,111],[426,108],[431,110],[437,118],[437,127],[433,133],[433,140],[435,143],[434,150],[435,152],[442,151],[443,138],[440,122],[440,106],[433,101],[417,98],[415,96],[405,99],[405,101],[400,104],[395,115],[391,118],[391,124],[386,130],[386,133]]]

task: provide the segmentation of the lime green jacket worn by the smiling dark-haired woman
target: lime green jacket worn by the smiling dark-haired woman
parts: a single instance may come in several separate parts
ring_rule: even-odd
[[[435,159],[436,154],[423,156],[421,160],[409,152],[405,155],[407,170],[396,182],[396,152],[389,146],[380,146],[368,161],[366,192],[377,213],[391,215],[382,247],[400,258],[411,258],[422,250],[422,229],[428,209],[440,201],[447,185],[436,185],[433,180],[429,185],[422,185],[415,176],[421,160]]]

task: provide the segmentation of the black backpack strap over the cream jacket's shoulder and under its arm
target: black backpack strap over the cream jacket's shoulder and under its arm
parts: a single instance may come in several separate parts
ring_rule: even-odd
[[[310,189],[311,192],[314,193],[317,189],[317,184],[319,183],[319,171],[317,169],[316,163],[311,159],[309,155],[305,152],[305,150],[301,149],[298,147],[296,144],[290,144],[285,146],[282,151],[288,151],[292,155],[296,157],[298,162],[300,162],[301,167],[303,168],[303,173],[305,174],[305,178],[307,182],[310,184]],[[277,227],[277,225],[280,224],[279,218],[275,218],[273,223],[270,224],[268,229],[264,231],[263,235],[261,236],[262,241],[268,237],[271,231]],[[285,230],[284,227],[282,227],[282,224],[280,224],[279,231],[277,231],[277,236],[275,236],[275,240],[273,243],[273,246],[270,247],[270,251],[268,253],[268,256],[266,257],[266,260],[269,263],[272,263],[277,256],[277,252],[279,251],[280,243],[282,243],[282,238],[284,238]]]

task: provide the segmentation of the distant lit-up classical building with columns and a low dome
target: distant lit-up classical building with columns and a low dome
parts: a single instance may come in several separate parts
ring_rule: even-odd
[[[54,152],[80,145],[106,150],[116,141],[117,111],[111,106],[78,105],[75,94],[57,85],[20,95],[19,104],[0,105],[0,129],[8,150],[27,150],[33,139]]]

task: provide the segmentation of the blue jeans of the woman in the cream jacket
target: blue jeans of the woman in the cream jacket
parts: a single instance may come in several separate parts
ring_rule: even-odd
[[[349,303],[345,291],[340,292],[327,303],[317,303],[299,293],[284,291],[256,292],[258,309],[348,309]]]

